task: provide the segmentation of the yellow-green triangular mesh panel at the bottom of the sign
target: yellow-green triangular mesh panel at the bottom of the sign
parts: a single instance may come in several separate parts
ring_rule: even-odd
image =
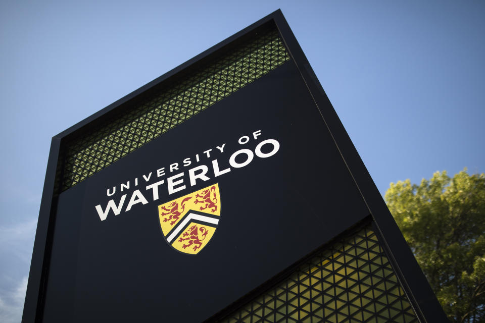
[[[303,264],[228,317],[232,322],[418,322],[368,226]]]

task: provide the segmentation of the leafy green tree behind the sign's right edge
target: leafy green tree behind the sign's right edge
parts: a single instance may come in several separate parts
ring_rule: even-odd
[[[450,321],[485,322],[485,174],[391,183],[385,200]]]

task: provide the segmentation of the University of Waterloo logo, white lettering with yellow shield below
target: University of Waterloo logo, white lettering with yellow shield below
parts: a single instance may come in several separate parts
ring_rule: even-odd
[[[130,214],[135,213],[133,216],[136,216],[136,210],[139,207],[159,201],[161,195],[170,196],[177,192],[185,192],[199,183],[214,182],[217,177],[231,170],[250,165],[255,157],[268,158],[276,154],[280,143],[275,139],[261,140],[261,135],[261,130],[257,130],[252,132],[251,138],[243,135],[237,140],[240,146],[246,146],[252,140],[256,141],[254,151],[242,148],[232,153],[227,152],[227,150],[224,151],[226,143],[223,143],[215,146],[214,152],[210,148],[202,154],[194,154],[193,160],[192,157],[186,157],[181,159],[181,163],[170,164],[167,167],[169,175],[166,174],[165,167],[161,167],[156,171],[141,174],[132,180],[107,188],[106,196],[112,198],[105,203],[105,206],[98,204],[94,209],[101,221],[105,221],[109,215],[118,216],[132,208],[133,211]],[[224,157],[226,166],[221,169],[218,159],[224,159]],[[165,194],[160,193],[161,189],[166,190]],[[127,198],[127,196],[130,197]],[[160,219],[161,232],[169,245],[183,253],[199,253],[211,240],[221,218],[219,184],[214,183],[158,205],[157,216]]]

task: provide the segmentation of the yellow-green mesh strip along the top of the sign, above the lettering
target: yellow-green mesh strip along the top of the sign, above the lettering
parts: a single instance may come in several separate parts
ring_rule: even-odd
[[[62,174],[61,191],[99,172],[287,60],[288,53],[276,30],[262,33],[133,106],[98,130],[69,143],[64,147],[62,170],[58,169],[58,174]]]

